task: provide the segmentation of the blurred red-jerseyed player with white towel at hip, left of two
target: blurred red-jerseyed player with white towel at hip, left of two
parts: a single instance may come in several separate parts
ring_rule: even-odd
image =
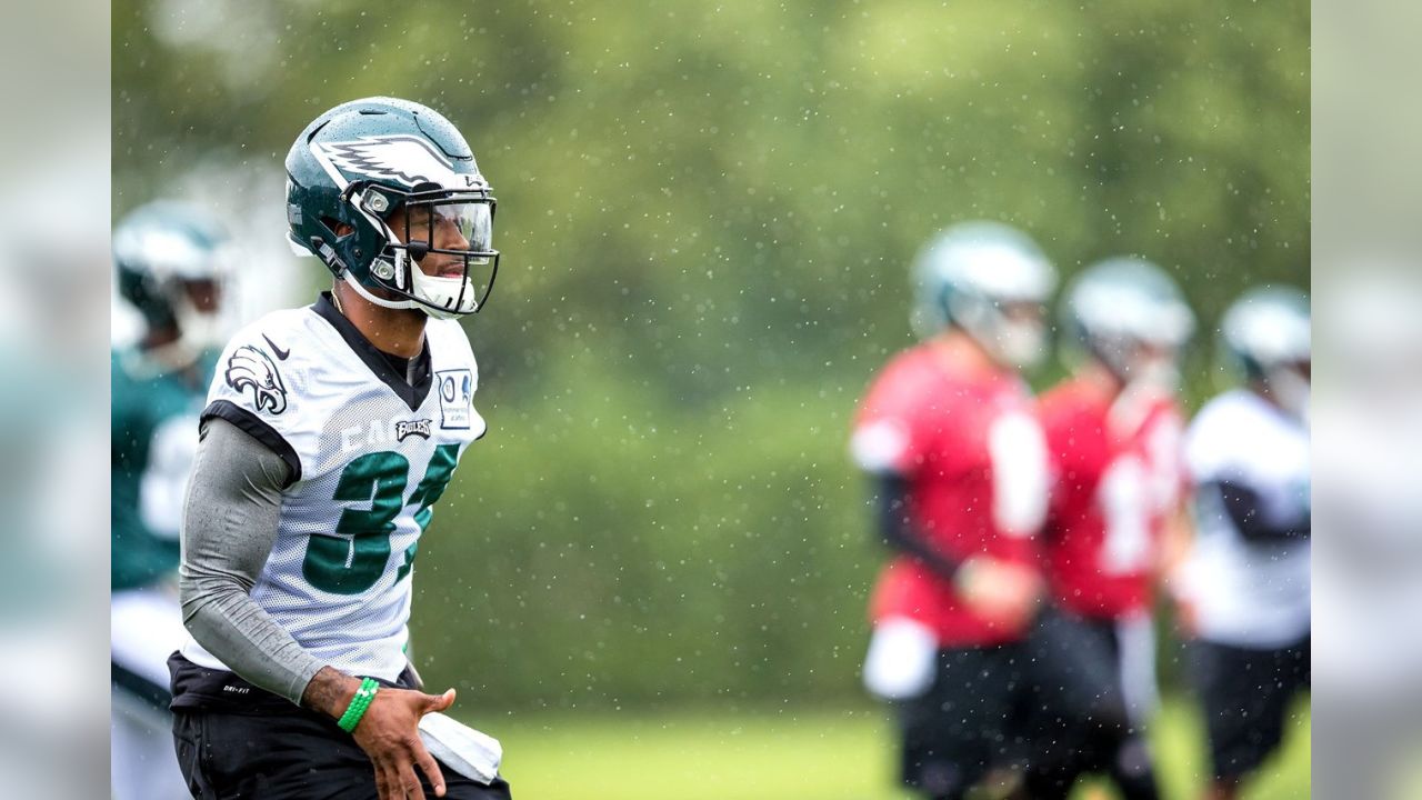
[[[904,783],[947,799],[1003,763],[1022,686],[1048,475],[1020,370],[1045,350],[1055,272],[1024,233],[974,222],[936,238],[914,282],[927,340],[875,380],[852,440],[896,551],[873,592],[865,683],[899,702]]]

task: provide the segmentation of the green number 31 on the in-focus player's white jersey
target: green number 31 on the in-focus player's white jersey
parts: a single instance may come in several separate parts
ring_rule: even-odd
[[[458,444],[435,447],[429,468],[410,500],[405,500],[410,461],[404,456],[383,451],[354,458],[341,471],[331,500],[368,501],[370,507],[343,510],[336,522],[340,537],[313,535],[306,545],[301,575],[317,589],[337,595],[358,595],[374,586],[390,562],[390,534],[395,532],[395,518],[407,505],[418,502],[415,524],[422,532],[434,514],[431,505],[449,485],[458,457]],[[410,574],[418,547],[415,542],[405,548],[395,581]]]

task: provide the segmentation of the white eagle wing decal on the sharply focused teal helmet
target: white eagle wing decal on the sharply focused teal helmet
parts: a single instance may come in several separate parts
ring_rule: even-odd
[[[314,144],[311,152],[343,188],[357,178],[395,181],[407,186],[438,184],[447,189],[483,185],[478,167],[474,175],[455,172],[454,164],[435,152],[429,142],[407,134]]]

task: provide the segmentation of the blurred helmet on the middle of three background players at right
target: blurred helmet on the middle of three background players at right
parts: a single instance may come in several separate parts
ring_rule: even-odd
[[[1194,333],[1194,313],[1170,276],[1133,256],[1111,258],[1078,275],[1061,302],[1068,342],[1125,384],[1173,389],[1176,359]]]

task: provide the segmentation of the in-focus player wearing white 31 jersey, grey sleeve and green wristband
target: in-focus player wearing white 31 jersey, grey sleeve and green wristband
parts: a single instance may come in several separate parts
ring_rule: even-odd
[[[317,117],[286,171],[289,238],[334,280],[218,362],[169,660],[179,764],[205,799],[508,797],[459,742],[431,754],[454,690],[421,692],[404,652],[419,538],[485,431],[458,317],[493,282],[493,195],[448,120],[384,97]]]

